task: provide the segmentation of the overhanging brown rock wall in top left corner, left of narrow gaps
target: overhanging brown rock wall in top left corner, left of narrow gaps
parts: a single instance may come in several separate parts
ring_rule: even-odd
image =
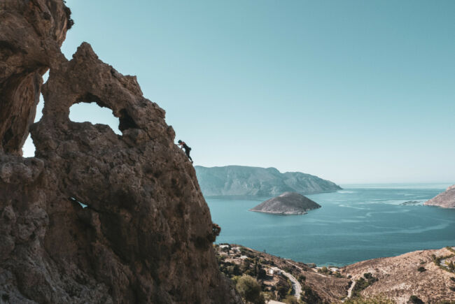
[[[0,2],[0,150],[22,154],[41,76],[62,57],[69,14],[61,0]]]

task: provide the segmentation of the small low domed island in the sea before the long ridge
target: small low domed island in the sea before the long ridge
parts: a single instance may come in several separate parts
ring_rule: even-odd
[[[276,215],[306,215],[309,210],[321,205],[296,192],[284,192],[251,208],[250,211],[273,213]]]

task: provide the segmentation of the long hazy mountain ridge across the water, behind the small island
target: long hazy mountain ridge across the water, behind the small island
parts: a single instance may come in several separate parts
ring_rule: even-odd
[[[204,196],[277,196],[283,192],[315,194],[342,189],[334,182],[300,172],[249,166],[195,166]]]

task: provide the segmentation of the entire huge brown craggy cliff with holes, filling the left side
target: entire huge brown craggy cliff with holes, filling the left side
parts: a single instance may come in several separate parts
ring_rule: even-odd
[[[217,268],[219,227],[165,111],[87,43],[64,58],[61,0],[0,9],[1,301],[240,303]],[[30,128],[36,157],[22,158],[48,68],[43,117]],[[71,122],[80,102],[110,108],[122,135]]]

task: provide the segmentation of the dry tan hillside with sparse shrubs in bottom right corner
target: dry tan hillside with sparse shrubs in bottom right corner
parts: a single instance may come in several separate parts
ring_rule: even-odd
[[[360,292],[363,296],[381,294],[399,304],[407,303],[410,296],[417,296],[424,303],[455,301],[455,273],[451,273],[444,263],[440,265],[441,259],[454,255],[453,251],[442,248],[408,252],[361,261],[341,270],[343,275],[351,275],[353,280],[365,273],[378,279]]]

